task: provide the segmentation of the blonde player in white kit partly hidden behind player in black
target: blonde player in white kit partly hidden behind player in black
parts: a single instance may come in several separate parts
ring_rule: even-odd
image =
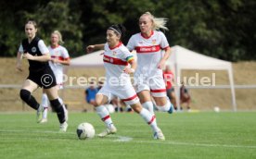
[[[56,81],[58,84],[58,90],[63,89],[63,66],[70,65],[70,55],[65,47],[62,44],[62,35],[59,31],[53,31],[51,34],[51,45],[48,46],[48,50],[51,55],[51,60],[49,61],[49,65],[52,68],[54,75],[56,77]],[[65,111],[66,120],[68,120],[68,110],[63,104],[63,100],[58,98],[59,103],[63,105],[63,109]],[[38,122],[45,123],[47,122],[47,112],[49,101],[45,91],[43,90],[42,102],[41,105],[44,107],[43,116],[39,116]]]

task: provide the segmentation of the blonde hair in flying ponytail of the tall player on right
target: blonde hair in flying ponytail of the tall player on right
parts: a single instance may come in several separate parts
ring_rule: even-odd
[[[168,28],[165,26],[168,19],[167,18],[155,18],[150,12],[144,13],[142,16],[147,15],[153,22],[153,30],[164,30],[168,31]]]

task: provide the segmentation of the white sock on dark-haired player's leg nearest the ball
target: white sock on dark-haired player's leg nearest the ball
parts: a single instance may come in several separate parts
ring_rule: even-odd
[[[99,105],[99,106],[96,106],[96,113],[98,116],[100,116],[100,118],[106,124],[106,126],[108,128],[111,128],[111,126],[113,125],[113,122],[111,117],[109,116],[108,109],[104,105]]]

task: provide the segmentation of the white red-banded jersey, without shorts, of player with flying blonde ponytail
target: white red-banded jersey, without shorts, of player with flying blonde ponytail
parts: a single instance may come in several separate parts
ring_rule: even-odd
[[[165,35],[161,31],[152,31],[150,37],[143,37],[141,33],[134,34],[127,44],[130,51],[137,53],[137,68],[134,76],[143,74],[150,77],[155,75],[162,76],[162,70],[158,68],[162,58],[162,50],[169,47]]]

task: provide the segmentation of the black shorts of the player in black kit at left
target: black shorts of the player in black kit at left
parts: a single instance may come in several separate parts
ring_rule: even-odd
[[[43,87],[44,89],[50,89],[57,85],[55,75],[50,67],[36,72],[30,71],[27,79],[31,79],[39,87]]]

